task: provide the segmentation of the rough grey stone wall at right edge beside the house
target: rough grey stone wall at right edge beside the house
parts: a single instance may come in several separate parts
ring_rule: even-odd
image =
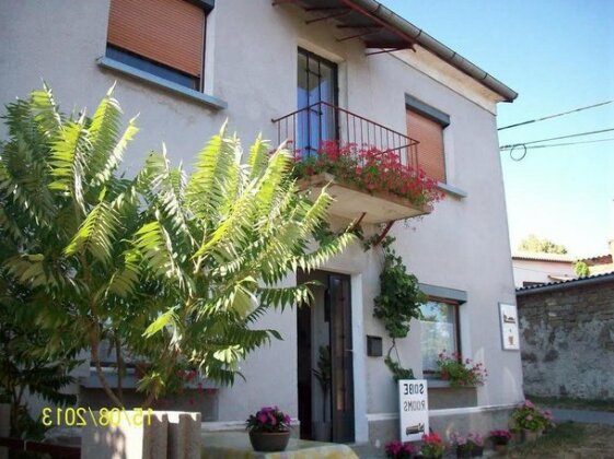
[[[544,290],[517,298],[524,392],[614,399],[614,276]]]

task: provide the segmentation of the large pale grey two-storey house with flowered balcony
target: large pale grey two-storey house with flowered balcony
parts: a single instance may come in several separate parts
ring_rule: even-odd
[[[340,187],[332,220],[363,215],[368,234],[385,226],[438,310],[397,342],[404,366],[429,375],[437,356],[421,343],[435,339],[488,368],[483,387],[430,381],[431,427],[506,425],[523,391],[520,353],[501,345],[499,304],[515,296],[496,126],[497,104],[514,91],[374,0],[11,0],[0,31],[2,102],[45,79],[65,109],[94,107],[117,82],[127,115],[140,113],[129,168],[162,141],[173,162],[189,163],[225,119],[246,142],[263,132],[306,151],[368,143],[420,165],[445,193],[430,214],[412,219],[420,210]],[[373,317],[380,268],[380,250],[357,244],[311,276],[289,273],[288,284],[317,278],[325,290],[308,313],[263,318],[283,341],[250,356],[245,381],[211,387],[205,428],[242,428],[250,412],[277,404],[300,417],[305,437],[321,419],[334,442],[397,437],[398,389],[367,345],[391,343]],[[326,344],[328,414],[312,374]],[[97,397],[91,374],[81,368],[72,388],[82,404]]]

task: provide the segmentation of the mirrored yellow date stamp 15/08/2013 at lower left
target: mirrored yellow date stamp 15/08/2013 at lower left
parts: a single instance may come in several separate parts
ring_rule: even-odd
[[[45,407],[40,412],[43,425],[46,427],[105,427],[118,426],[120,424],[130,427],[139,427],[141,425],[151,425],[151,416],[153,410],[148,408],[135,408],[126,410],[124,408],[102,408],[94,410],[83,407]]]

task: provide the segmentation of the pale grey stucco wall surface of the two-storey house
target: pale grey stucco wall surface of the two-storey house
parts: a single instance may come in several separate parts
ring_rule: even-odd
[[[420,54],[366,57],[360,42],[338,43],[338,31],[322,22],[304,23],[293,7],[271,7],[269,0],[217,2],[209,15],[206,87],[228,102],[212,110],[200,103],[103,70],[96,58],[106,46],[108,0],[4,0],[0,9],[0,101],[51,85],[65,110],[90,110],[117,81],[116,96],[127,117],[140,113],[140,132],[126,155],[130,170],[164,141],[173,162],[189,164],[224,119],[245,143],[259,131],[273,137],[271,118],[296,109],[297,48],[308,48],[339,64],[339,101],[346,108],[401,132],[405,127],[405,94],[451,117],[445,129],[448,183],[468,193],[448,197],[435,212],[408,225],[398,222],[392,234],[397,251],[420,282],[464,290],[461,306],[463,352],[485,362],[490,377],[478,390],[480,404],[508,404],[522,399],[520,354],[500,349],[498,302],[514,303],[507,216],[495,119],[495,96],[449,66],[427,75],[407,62]],[[402,54],[403,55],[403,54]],[[403,57],[403,56],[402,56]],[[447,70],[443,71],[442,70]],[[442,72],[454,80],[451,90],[438,82]],[[441,79],[440,79],[441,80]],[[489,98],[490,97],[490,98]],[[473,99],[473,101],[472,101]],[[331,270],[352,274],[356,305],[355,349],[364,349],[366,334],[385,336],[372,317],[379,292],[379,254],[354,247],[333,260]],[[289,283],[294,282],[290,275]],[[270,314],[263,326],[275,327],[275,342],[244,365],[246,382],[220,391],[220,420],[243,421],[263,404],[297,413],[296,314]],[[406,366],[420,374],[419,327],[399,343]],[[384,342],[384,349],[387,343]],[[355,352],[357,438],[366,438],[366,413],[397,410],[396,392],[382,358]],[[390,388],[390,390],[389,390]]]

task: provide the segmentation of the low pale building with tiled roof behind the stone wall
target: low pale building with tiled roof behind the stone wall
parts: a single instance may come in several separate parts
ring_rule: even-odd
[[[577,279],[576,258],[567,254],[519,251],[512,254],[513,280],[517,289],[548,282]]]

